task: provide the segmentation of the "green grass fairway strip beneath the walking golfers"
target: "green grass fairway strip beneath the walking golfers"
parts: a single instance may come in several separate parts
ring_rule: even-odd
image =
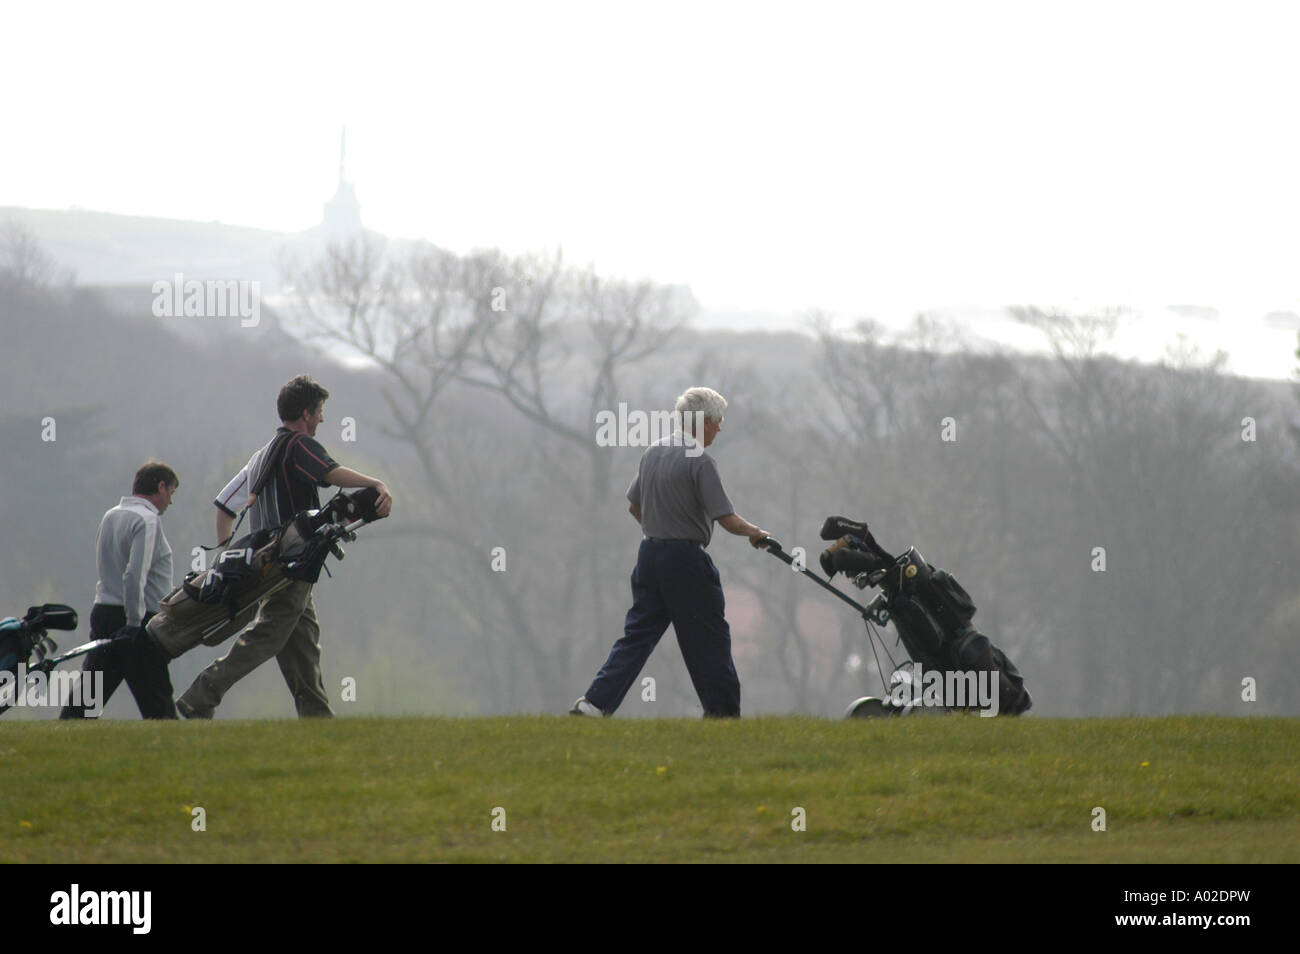
[[[0,862],[1300,862],[1300,719],[0,720]]]

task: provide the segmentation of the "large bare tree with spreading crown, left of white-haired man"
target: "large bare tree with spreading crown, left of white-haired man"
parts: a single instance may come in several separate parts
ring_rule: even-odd
[[[630,520],[611,499],[611,450],[595,442],[595,412],[612,408],[627,369],[682,326],[689,295],[566,269],[558,253],[458,257],[419,246],[399,255],[373,238],[330,246],[290,281],[304,329],[387,377],[385,433],[412,448],[428,491],[420,519],[404,519],[402,533],[459,551],[450,595],[497,660],[494,678],[514,688],[511,699],[523,698],[516,669],[526,660],[538,702],[568,691],[584,642],[576,634],[607,642],[611,526]],[[512,422],[480,395],[512,412]],[[510,468],[530,474],[526,499],[493,467],[502,448],[471,421],[500,421],[515,435]],[[485,507],[491,520],[476,521]],[[486,550],[488,533],[512,541],[517,569],[484,574],[464,561],[467,551]],[[556,590],[566,594],[560,604]]]

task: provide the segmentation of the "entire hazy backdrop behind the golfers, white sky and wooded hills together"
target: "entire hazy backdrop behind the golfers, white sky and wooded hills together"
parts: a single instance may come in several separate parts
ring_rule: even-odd
[[[78,8],[66,68],[0,58],[42,78],[3,127],[0,615],[68,602],[84,637],[148,456],[179,582],[308,372],[317,438],[395,498],[315,591],[335,710],[564,711],[640,538],[641,450],[595,416],[706,385],[746,519],[812,567],[829,513],[915,545],[1036,714],[1300,711],[1284,5],[254,9]],[[164,75],[178,49],[213,69]],[[157,316],[177,274],[257,282],[260,321]],[[848,607],[710,554],[745,714],[879,694]],[[671,633],[642,675],[620,715],[698,712]],[[263,667],[222,711],[292,707]]]

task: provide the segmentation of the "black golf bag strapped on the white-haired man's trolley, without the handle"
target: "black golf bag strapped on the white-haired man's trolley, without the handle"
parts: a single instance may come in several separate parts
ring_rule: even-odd
[[[916,547],[892,556],[861,521],[827,517],[822,539],[835,541],[822,554],[828,577],[844,572],[859,587],[880,589],[867,607],[867,619],[880,625],[893,623],[910,662],[940,673],[993,673],[998,712],[1028,711],[1032,701],[1024,677],[975,629],[975,602],[952,574],[927,563]]]

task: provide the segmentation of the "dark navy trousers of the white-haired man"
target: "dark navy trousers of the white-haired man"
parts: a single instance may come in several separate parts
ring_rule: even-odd
[[[641,541],[632,572],[632,608],[586,701],[614,712],[628,694],[668,624],[706,716],[740,715],[740,678],[723,615],[722,578],[705,550],[686,541]]]

